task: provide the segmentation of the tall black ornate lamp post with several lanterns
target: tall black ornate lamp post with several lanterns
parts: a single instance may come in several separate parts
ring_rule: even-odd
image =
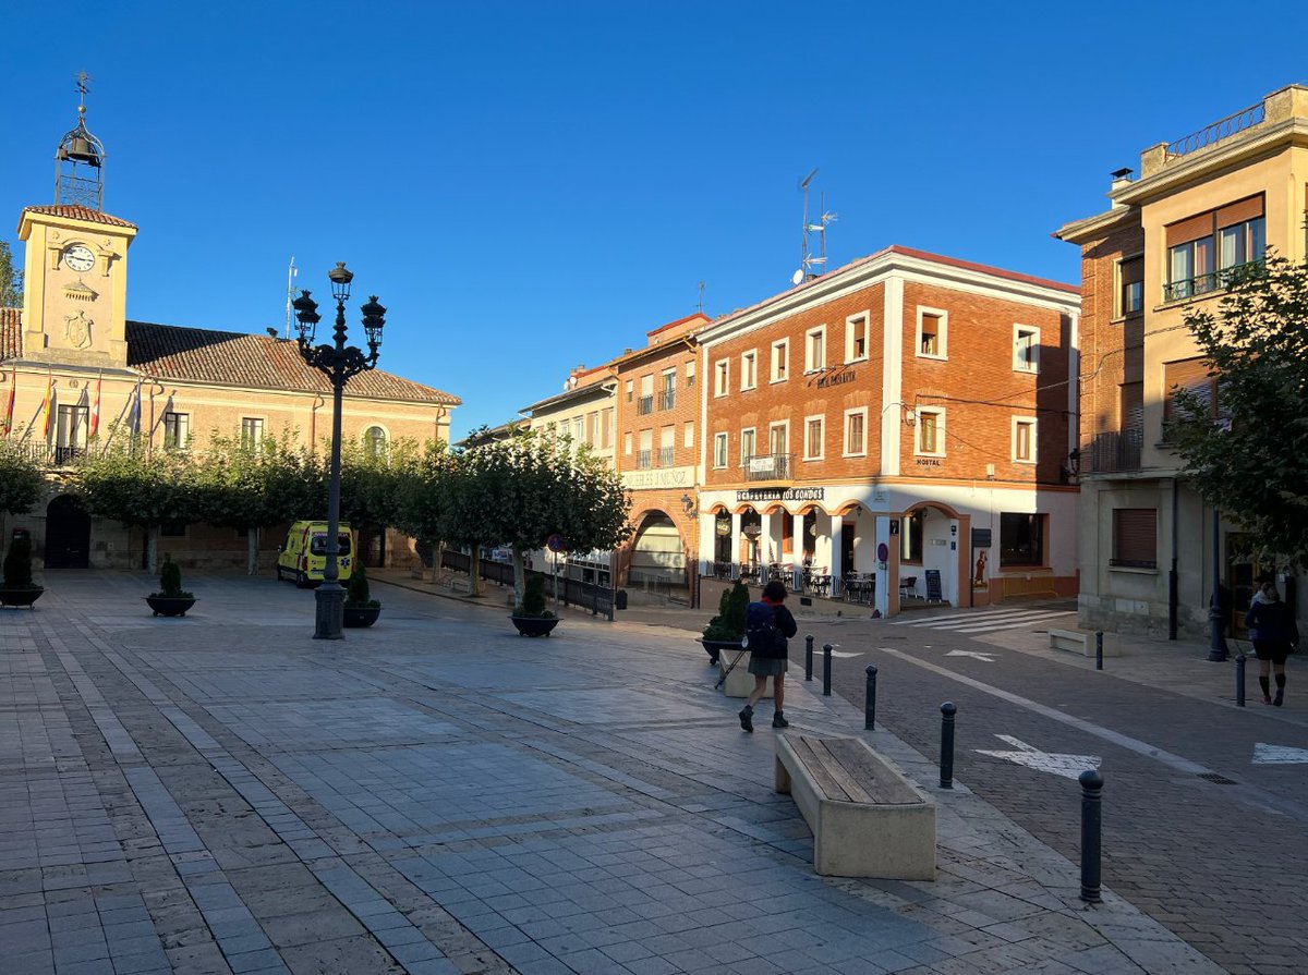
[[[349,282],[354,274],[345,264],[327,272],[331,280],[331,293],[336,299],[336,328],[332,332],[334,344],[314,345],[318,329],[318,302],[301,291],[292,302],[296,310],[296,329],[300,332],[300,354],[331,383],[331,480],[327,490],[327,567],[323,570],[323,584],[318,587],[317,614],[314,617],[315,640],[341,639],[341,625],[345,616],[345,591],[340,587],[340,400],[345,383],[351,376],[377,367],[377,350],[382,346],[382,327],[386,324],[386,308],[377,303],[377,295],[368,299],[360,308],[364,312],[364,331],[368,333],[368,354],[353,345],[345,345],[345,302],[349,301]],[[357,558],[357,554],[356,554]]]

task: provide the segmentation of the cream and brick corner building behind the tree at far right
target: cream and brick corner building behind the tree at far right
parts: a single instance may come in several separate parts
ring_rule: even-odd
[[[1283,88],[1144,149],[1138,178],[1113,174],[1108,210],[1057,231],[1082,251],[1083,626],[1197,636],[1215,576],[1247,606],[1275,570],[1241,555],[1239,527],[1179,478],[1164,421],[1177,387],[1219,408],[1184,315],[1215,311],[1230,273],[1266,247],[1305,257],[1305,131],[1308,88]]]

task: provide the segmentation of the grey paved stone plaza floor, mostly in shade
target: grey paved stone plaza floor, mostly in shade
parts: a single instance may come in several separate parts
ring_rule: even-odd
[[[800,673],[797,728],[939,802],[935,882],[818,877],[774,732],[679,630],[527,640],[379,586],[375,629],[315,642],[271,579],[188,576],[184,620],[143,574],[46,583],[0,614],[7,972],[1219,971]]]

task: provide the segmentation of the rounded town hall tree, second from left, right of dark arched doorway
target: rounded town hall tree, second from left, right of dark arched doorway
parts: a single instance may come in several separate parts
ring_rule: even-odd
[[[76,480],[93,515],[145,532],[145,566],[158,571],[158,529],[200,519],[200,482],[187,451],[150,451],[143,435],[109,437],[82,456]]]

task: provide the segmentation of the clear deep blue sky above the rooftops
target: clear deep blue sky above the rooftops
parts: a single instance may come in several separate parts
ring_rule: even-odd
[[[1179,10],[5,0],[3,239],[52,201],[85,69],[131,318],[263,332],[292,255],[322,299],[345,260],[381,366],[463,397],[458,437],[700,281],[710,315],[787,288],[815,166],[831,267],[899,243],[1076,281],[1049,234],[1110,170],[1308,80],[1301,8]]]

